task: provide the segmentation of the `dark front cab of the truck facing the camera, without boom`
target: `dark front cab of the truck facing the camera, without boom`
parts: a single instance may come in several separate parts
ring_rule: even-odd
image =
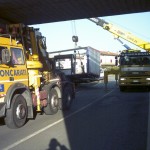
[[[119,88],[150,87],[150,53],[126,50],[119,55]]]

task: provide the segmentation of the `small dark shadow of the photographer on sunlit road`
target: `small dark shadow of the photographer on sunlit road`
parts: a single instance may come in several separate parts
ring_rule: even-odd
[[[66,146],[61,145],[56,139],[52,139],[47,150],[69,150]]]

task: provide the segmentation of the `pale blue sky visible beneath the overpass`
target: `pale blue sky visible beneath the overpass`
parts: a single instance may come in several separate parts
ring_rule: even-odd
[[[150,42],[150,12],[99,18],[104,19],[113,25],[117,25],[128,32],[131,32],[135,36]],[[75,48],[75,43],[72,41],[73,35],[78,36],[77,47],[90,46],[100,51],[114,53],[118,53],[125,49],[120,42],[114,39],[112,33],[97,26],[87,18],[32,26],[34,28],[39,28],[42,35],[46,37],[48,52]],[[122,41],[131,48],[138,48],[126,40]]]

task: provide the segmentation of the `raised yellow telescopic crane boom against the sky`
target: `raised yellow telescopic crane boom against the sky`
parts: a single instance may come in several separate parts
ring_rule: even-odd
[[[118,27],[115,26],[111,23],[106,22],[103,19],[100,19],[98,17],[95,18],[89,18],[90,21],[96,23],[97,25],[101,26],[103,29],[111,32],[112,34],[114,34],[115,36],[117,36],[118,38],[121,37],[127,41],[129,41],[130,43],[146,50],[146,51],[150,51],[150,42],[147,42],[139,37],[136,37],[135,35],[133,35],[132,33]]]

